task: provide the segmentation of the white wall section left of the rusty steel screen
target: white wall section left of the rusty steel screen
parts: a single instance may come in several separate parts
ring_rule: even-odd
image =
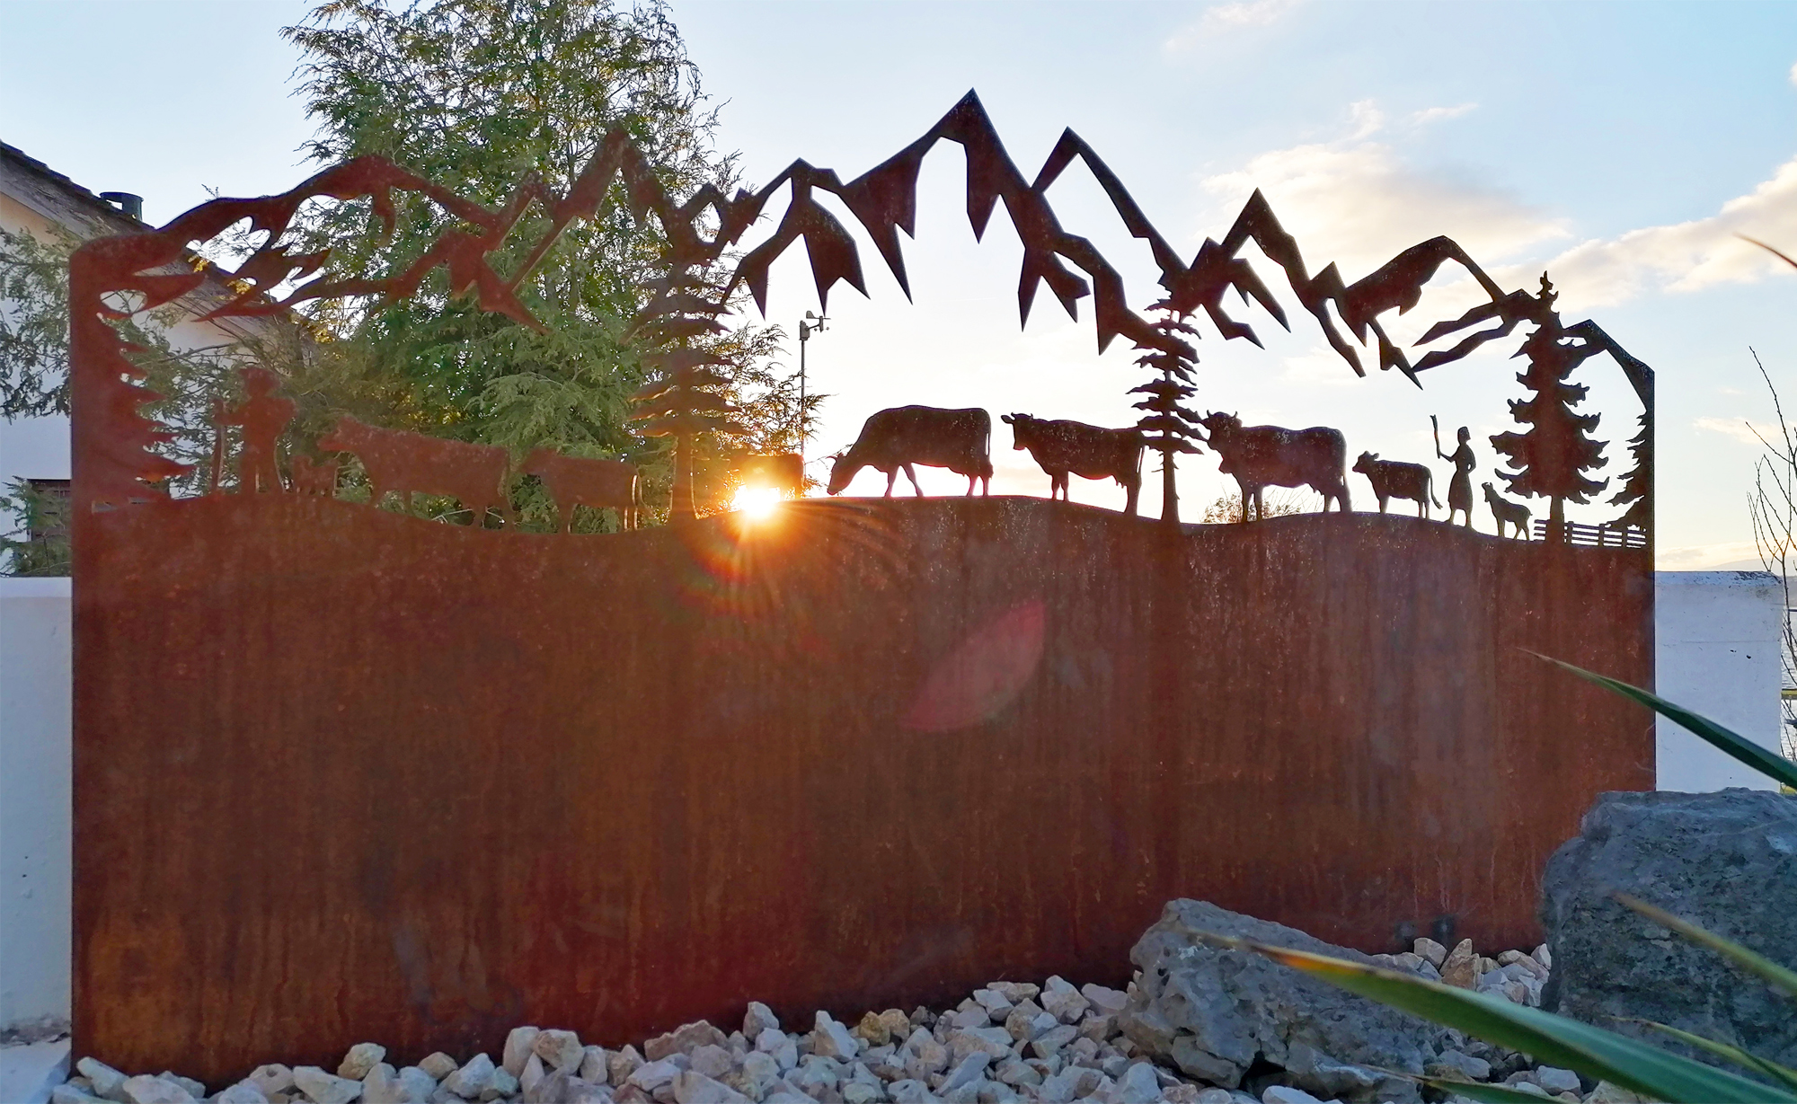
[[[68,1021],[70,586],[0,577],[0,1032]]]

